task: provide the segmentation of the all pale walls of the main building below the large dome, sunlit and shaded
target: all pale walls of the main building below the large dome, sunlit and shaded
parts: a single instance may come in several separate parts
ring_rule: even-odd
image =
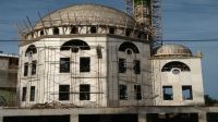
[[[60,47],[68,40],[80,39],[86,41],[90,50],[82,50],[77,53],[60,51]],[[75,38],[45,38],[29,45],[35,45],[37,53],[33,57],[25,57],[29,45],[20,49],[20,98],[22,88],[27,87],[26,101],[21,101],[21,107],[29,107],[35,103],[58,101],[71,103],[78,107],[108,107],[108,106],[143,106],[149,105],[147,98],[150,93],[149,85],[149,45],[140,41],[132,41],[140,50],[140,53],[126,54],[118,51],[120,45],[130,41],[124,38],[110,36],[102,37],[75,37]],[[97,58],[96,47],[101,47],[102,59]],[[90,57],[90,72],[80,72],[80,57]],[[60,58],[71,59],[71,72],[59,73]],[[126,73],[118,73],[118,59],[126,59]],[[31,64],[37,61],[37,71],[31,75]],[[141,74],[134,73],[133,61],[141,61]],[[28,76],[24,76],[24,64],[29,63]],[[90,85],[90,100],[80,100],[80,85]],[[128,100],[119,99],[119,85],[128,86]],[[70,85],[70,100],[59,100],[59,85]],[[134,85],[141,85],[142,100],[136,100]],[[31,86],[36,87],[35,100],[29,101]],[[110,103],[108,103],[110,102]]]

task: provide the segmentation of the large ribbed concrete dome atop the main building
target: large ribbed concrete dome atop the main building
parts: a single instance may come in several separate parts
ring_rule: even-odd
[[[69,25],[111,25],[134,27],[135,20],[122,11],[97,4],[76,4],[57,10],[35,25],[35,29]]]

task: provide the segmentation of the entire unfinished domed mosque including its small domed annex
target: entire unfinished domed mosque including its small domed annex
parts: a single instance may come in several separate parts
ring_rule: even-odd
[[[148,9],[135,5],[135,11],[150,14]],[[97,122],[156,122],[146,113],[184,112],[185,106],[204,105],[202,54],[182,45],[153,47],[147,16],[138,12],[133,17],[97,4],[39,15],[32,29],[22,30],[17,91],[25,111],[17,117],[70,114],[65,121],[93,122],[95,117]],[[177,111],[178,107],[184,108]]]

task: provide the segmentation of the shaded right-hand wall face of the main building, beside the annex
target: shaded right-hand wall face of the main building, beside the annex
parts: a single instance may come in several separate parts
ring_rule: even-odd
[[[109,89],[109,106],[145,106],[149,105],[149,45],[145,42],[132,41],[140,50],[140,53],[128,54],[126,52],[119,51],[119,47],[126,40],[118,38],[108,38],[108,89]],[[125,59],[126,72],[119,73],[119,58]],[[141,73],[134,73],[134,60],[141,61]],[[128,87],[128,98],[121,100],[119,96],[119,85]],[[142,99],[136,100],[134,95],[134,85],[141,85]]]

